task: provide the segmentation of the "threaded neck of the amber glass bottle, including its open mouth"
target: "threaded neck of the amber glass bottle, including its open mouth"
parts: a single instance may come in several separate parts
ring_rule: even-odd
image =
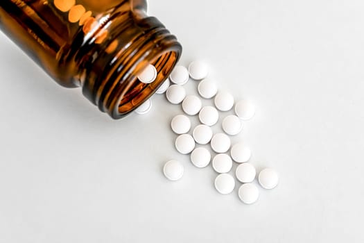
[[[116,11],[90,28],[75,53],[83,94],[114,119],[124,117],[146,101],[168,78],[182,53],[174,35],[142,10]],[[88,25],[88,26],[87,26]],[[153,83],[138,81],[149,65],[157,69]]]

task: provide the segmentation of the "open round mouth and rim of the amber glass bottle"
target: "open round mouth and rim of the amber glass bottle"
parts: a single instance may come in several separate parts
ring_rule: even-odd
[[[135,49],[134,55],[127,56],[128,62],[120,58],[119,68],[108,81],[114,87],[105,89],[105,86],[101,92],[98,107],[114,119],[125,117],[149,99],[166,81],[180,58],[182,47],[174,35],[166,29],[155,34],[159,37],[153,37],[154,41],[147,38],[141,44],[143,48]],[[152,83],[141,83],[138,76],[148,65],[155,67],[157,77]]]

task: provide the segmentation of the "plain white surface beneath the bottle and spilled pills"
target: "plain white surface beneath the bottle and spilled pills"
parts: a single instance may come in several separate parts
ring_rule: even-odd
[[[233,141],[281,181],[252,206],[237,187],[218,194],[213,169],[175,151],[180,106],[159,95],[148,115],[114,121],[1,34],[0,242],[363,242],[363,9],[150,1],[183,44],[182,65],[206,60],[221,90],[257,105]],[[185,165],[176,183],[162,175],[172,158]]]

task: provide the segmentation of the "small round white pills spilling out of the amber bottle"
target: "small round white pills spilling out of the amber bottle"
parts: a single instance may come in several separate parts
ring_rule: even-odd
[[[189,155],[191,163],[198,168],[207,167],[212,161],[212,168],[218,173],[214,182],[216,190],[220,194],[229,194],[234,191],[236,182],[241,183],[238,190],[239,199],[243,203],[252,204],[259,198],[259,188],[254,183],[255,178],[258,177],[258,182],[264,189],[272,189],[277,186],[279,176],[272,168],[261,170],[257,176],[257,170],[249,162],[252,157],[250,146],[243,142],[232,144],[230,140],[229,136],[238,135],[243,131],[244,121],[254,117],[255,106],[248,100],[235,102],[232,94],[218,90],[216,83],[207,78],[208,74],[209,68],[202,61],[191,62],[188,69],[177,66],[156,93],[166,93],[166,99],[173,105],[181,104],[185,113],[176,115],[171,121],[172,131],[177,135],[175,149],[179,153]],[[156,76],[155,67],[148,65],[138,78],[142,83],[152,83]],[[199,82],[197,90],[202,99],[214,98],[210,106],[202,106],[200,97],[187,94],[183,85],[190,78]],[[152,102],[149,99],[135,112],[145,114],[151,107]],[[214,134],[211,126],[218,124],[223,112],[233,108],[235,115],[227,115],[220,124],[224,133]],[[191,131],[189,117],[193,116],[198,116],[200,124],[189,134]],[[212,156],[209,149],[200,146],[205,144],[210,144],[211,151],[216,153],[215,156]],[[234,174],[229,174],[234,162],[238,166]],[[164,165],[163,172],[169,180],[177,181],[183,176],[184,166],[182,162],[170,160]]]

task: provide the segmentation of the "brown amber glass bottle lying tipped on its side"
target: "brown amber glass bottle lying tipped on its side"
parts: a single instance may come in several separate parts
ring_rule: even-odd
[[[168,77],[182,47],[145,0],[0,0],[0,28],[64,87],[114,119],[148,99]],[[144,68],[157,79],[137,80]]]

